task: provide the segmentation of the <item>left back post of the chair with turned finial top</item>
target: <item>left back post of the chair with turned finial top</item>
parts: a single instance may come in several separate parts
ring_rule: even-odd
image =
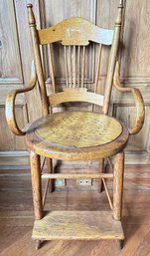
[[[27,4],[27,9],[28,9],[28,22],[29,22],[29,27],[30,27],[31,37],[33,42],[36,73],[37,73],[37,77],[40,85],[42,112],[43,112],[43,115],[46,116],[49,114],[49,101],[47,97],[46,85],[44,80],[44,73],[42,68],[42,60],[41,60],[40,47],[39,47],[39,39],[38,39],[38,33],[36,29],[36,20],[33,13],[33,5]]]

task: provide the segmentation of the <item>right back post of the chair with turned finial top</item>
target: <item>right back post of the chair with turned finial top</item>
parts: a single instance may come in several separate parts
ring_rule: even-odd
[[[118,6],[118,14],[117,14],[115,25],[114,25],[113,40],[112,40],[112,46],[111,46],[111,51],[109,56],[109,64],[108,64],[107,77],[106,77],[106,83],[105,83],[104,103],[102,108],[102,112],[105,115],[108,114],[108,110],[109,110],[113,75],[114,75],[114,69],[115,69],[116,58],[117,58],[117,53],[119,48],[119,41],[120,41],[122,16],[123,16],[123,0],[120,0],[120,4]]]

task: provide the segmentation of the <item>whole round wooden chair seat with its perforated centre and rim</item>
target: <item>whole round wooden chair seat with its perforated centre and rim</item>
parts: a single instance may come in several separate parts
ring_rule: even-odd
[[[117,120],[91,112],[62,112],[27,129],[29,147],[57,159],[99,159],[123,148],[128,130]]]

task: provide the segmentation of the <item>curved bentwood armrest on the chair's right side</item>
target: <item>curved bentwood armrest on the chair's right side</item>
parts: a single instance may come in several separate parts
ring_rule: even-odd
[[[136,106],[136,120],[135,125],[133,128],[129,129],[130,134],[136,134],[140,131],[140,129],[143,127],[144,124],[144,118],[145,118],[145,108],[144,108],[144,102],[142,95],[140,91],[136,88],[122,88],[120,85],[120,67],[118,61],[116,62],[115,66],[115,72],[114,72],[114,79],[113,84],[115,88],[122,93],[132,93],[134,100],[135,100],[135,106]]]

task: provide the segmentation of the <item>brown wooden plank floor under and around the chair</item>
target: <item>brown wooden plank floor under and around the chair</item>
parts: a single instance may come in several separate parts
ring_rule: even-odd
[[[126,171],[139,173],[139,166],[126,166]],[[149,173],[149,166],[141,172]],[[1,170],[0,179],[0,245],[1,256],[148,256],[150,251],[150,189],[136,184],[131,190],[131,177],[125,178],[123,201],[124,247],[119,251],[114,240],[101,241],[48,241],[37,252],[31,240],[34,212],[31,179],[27,170],[21,177],[21,170],[11,170],[16,177],[5,175]],[[25,173],[27,173],[25,175]],[[2,176],[3,174],[3,176]],[[140,175],[138,175],[140,176]],[[132,184],[136,180],[132,181]],[[139,182],[143,184],[142,180]],[[110,195],[112,191],[110,190]],[[59,203],[58,203],[59,202]],[[47,210],[109,210],[105,193],[96,191],[55,191],[48,195]]]

